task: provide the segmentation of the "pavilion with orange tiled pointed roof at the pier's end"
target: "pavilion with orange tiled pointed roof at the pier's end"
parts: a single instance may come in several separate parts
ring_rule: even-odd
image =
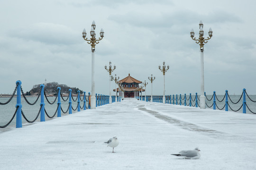
[[[142,83],[141,81],[130,76],[130,74],[122,80],[119,80],[119,82],[122,82],[121,85],[125,90],[124,97],[134,97],[135,89],[139,86],[139,84]],[[114,89],[113,91],[115,92],[116,89]],[[142,89],[142,91],[144,92],[145,90]],[[117,93],[119,93],[119,88],[117,88]],[[139,89],[139,93],[141,93],[141,88]]]

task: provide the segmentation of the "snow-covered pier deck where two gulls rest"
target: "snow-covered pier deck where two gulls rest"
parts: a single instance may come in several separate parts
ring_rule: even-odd
[[[171,155],[195,147],[200,159]],[[0,133],[0,170],[255,170],[255,158],[256,115],[135,99]]]

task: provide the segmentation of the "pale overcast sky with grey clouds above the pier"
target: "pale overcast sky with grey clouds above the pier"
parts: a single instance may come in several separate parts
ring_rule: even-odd
[[[109,73],[147,81],[153,94],[200,93],[199,22],[204,37],[205,92],[256,94],[256,1],[254,0],[0,0],[0,93],[57,82],[91,91],[91,45],[82,38],[96,23],[105,36],[95,49],[95,91],[109,94]],[[89,37],[89,35],[87,35]],[[111,89],[115,88],[111,82]],[[112,91],[112,94],[114,92]]]

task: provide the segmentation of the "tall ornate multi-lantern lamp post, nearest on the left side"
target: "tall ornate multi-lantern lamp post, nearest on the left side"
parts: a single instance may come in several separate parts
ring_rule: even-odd
[[[95,52],[95,45],[99,43],[99,41],[102,40],[102,38],[104,37],[104,31],[101,28],[101,32],[100,35],[101,37],[97,40],[96,34],[95,34],[95,22],[93,21],[91,24],[91,31],[90,31],[90,35],[91,38],[90,40],[86,37],[86,30],[83,29],[82,31],[82,37],[85,41],[87,41],[88,44],[91,44],[91,109],[96,109],[96,97],[95,97],[95,81],[94,81],[94,65],[95,65],[95,57],[94,57],[94,52]]]

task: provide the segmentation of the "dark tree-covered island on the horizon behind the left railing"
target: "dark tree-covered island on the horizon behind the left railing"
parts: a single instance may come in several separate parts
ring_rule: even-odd
[[[69,87],[67,85],[60,85],[57,82],[52,82],[52,83],[46,83],[45,85],[45,93],[47,96],[56,96],[58,95],[58,90],[57,88],[60,87],[61,88],[61,93],[64,94],[64,96],[66,96],[69,93],[69,89],[72,90],[73,94],[77,94],[78,91],[80,91],[80,93],[82,94],[83,91],[80,90],[79,88],[76,87]],[[40,93],[40,85],[33,85],[33,88],[29,91],[26,92],[26,95],[38,95]]]

